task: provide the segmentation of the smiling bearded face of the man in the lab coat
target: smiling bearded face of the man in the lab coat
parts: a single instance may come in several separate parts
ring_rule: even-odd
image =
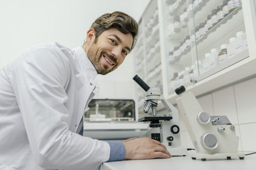
[[[87,56],[98,74],[105,75],[121,65],[132,47],[131,33],[124,34],[112,28],[103,31],[88,48]]]

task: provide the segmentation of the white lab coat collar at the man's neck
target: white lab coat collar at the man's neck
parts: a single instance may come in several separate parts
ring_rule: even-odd
[[[89,73],[88,75],[90,75],[90,77],[92,79],[95,79],[97,77],[97,71],[95,69],[95,67],[93,66],[92,62],[89,60],[89,58],[87,57],[84,49],[79,46],[73,49],[75,51],[75,57],[76,59],[81,62],[83,69]],[[77,55],[76,55],[77,54]]]

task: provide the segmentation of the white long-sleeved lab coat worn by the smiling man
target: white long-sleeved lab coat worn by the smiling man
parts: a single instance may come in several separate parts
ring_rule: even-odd
[[[99,169],[105,141],[75,133],[97,72],[82,47],[31,47],[0,75],[0,169]]]

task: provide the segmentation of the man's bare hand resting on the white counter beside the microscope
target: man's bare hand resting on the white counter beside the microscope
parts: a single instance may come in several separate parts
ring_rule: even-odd
[[[123,141],[125,159],[170,158],[172,155],[159,141],[150,138],[131,138]]]

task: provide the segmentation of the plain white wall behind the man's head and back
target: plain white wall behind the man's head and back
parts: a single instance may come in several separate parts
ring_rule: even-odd
[[[122,11],[138,21],[147,2],[145,0],[0,1],[0,69],[21,50],[36,44],[57,41],[69,48],[82,46],[86,31],[92,22],[104,13]],[[98,96],[130,97],[133,94],[132,77],[133,56],[130,54],[116,71],[97,77],[100,90]]]

